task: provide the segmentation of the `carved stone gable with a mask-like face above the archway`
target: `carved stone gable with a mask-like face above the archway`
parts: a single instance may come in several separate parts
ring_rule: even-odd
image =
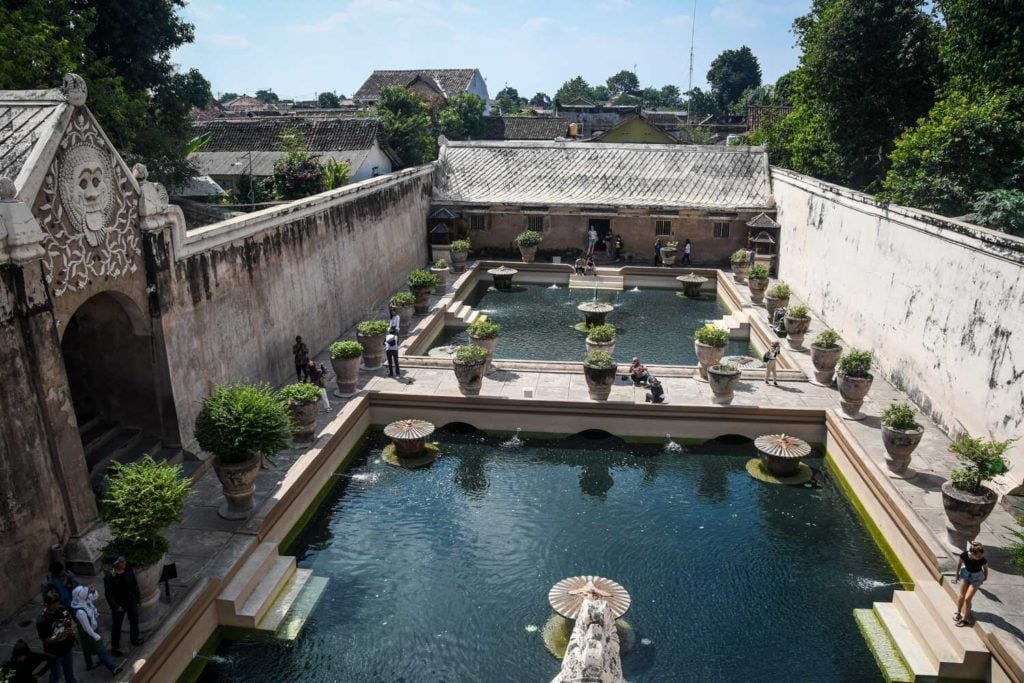
[[[54,297],[141,267],[137,191],[84,108],[71,117],[34,213]]]

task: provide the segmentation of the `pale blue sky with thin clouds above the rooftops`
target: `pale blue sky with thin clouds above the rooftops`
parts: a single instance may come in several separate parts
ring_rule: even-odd
[[[765,82],[797,65],[790,32],[810,0],[697,0],[693,85],[724,49],[749,45]],[[644,86],[686,89],[692,0],[189,0],[196,42],[173,55],[214,93],[351,95],[374,69],[477,68],[553,95],[577,75],[591,85],[634,65]]]

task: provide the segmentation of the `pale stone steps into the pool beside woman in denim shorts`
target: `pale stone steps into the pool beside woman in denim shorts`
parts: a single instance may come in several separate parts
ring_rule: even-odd
[[[981,637],[952,621],[955,601],[934,583],[894,591],[892,602],[876,602],[871,614],[855,614],[886,680],[982,680],[990,654]],[[871,615],[882,629],[871,628]],[[898,654],[898,661],[892,656]]]

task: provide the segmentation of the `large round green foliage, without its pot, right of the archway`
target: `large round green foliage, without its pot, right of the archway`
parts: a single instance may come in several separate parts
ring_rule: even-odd
[[[200,447],[225,464],[278,453],[291,438],[292,417],[268,384],[216,386],[196,417]]]

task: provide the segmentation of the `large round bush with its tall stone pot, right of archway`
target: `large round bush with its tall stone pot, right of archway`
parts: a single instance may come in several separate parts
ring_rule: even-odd
[[[260,454],[288,447],[292,418],[267,384],[216,386],[196,417],[196,439],[214,455],[213,469],[224,489],[224,519],[245,519],[253,509]]]

